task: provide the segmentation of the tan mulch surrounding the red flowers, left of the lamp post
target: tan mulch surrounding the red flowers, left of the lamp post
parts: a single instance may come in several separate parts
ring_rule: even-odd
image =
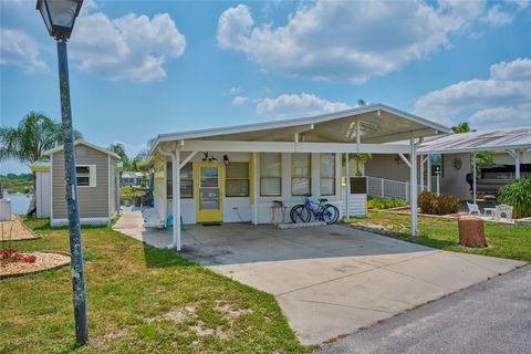
[[[66,252],[28,252],[23,254],[35,254],[33,263],[13,262],[0,266],[0,280],[6,278],[22,277],[51,269],[59,269],[70,264],[70,254]]]

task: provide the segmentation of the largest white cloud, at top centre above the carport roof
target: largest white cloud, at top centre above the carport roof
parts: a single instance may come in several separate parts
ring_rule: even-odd
[[[483,1],[316,1],[274,28],[239,4],[221,13],[217,38],[263,70],[362,83],[448,46],[483,12]]]

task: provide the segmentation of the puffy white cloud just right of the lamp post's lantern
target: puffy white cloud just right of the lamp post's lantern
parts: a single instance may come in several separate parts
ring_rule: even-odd
[[[168,13],[110,19],[96,12],[80,15],[71,48],[83,71],[145,82],[167,75],[165,64],[183,55],[186,40]]]

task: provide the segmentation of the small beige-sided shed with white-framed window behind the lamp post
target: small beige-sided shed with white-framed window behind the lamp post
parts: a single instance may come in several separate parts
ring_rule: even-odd
[[[75,140],[77,200],[83,225],[108,223],[119,210],[118,156],[94,144]],[[52,227],[67,225],[63,146],[44,153],[49,163],[33,165],[37,216]]]

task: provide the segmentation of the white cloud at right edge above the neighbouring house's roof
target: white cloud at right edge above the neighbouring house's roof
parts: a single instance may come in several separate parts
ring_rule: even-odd
[[[490,66],[487,80],[462,81],[429,92],[415,113],[442,124],[467,119],[478,129],[531,125],[531,59]]]

